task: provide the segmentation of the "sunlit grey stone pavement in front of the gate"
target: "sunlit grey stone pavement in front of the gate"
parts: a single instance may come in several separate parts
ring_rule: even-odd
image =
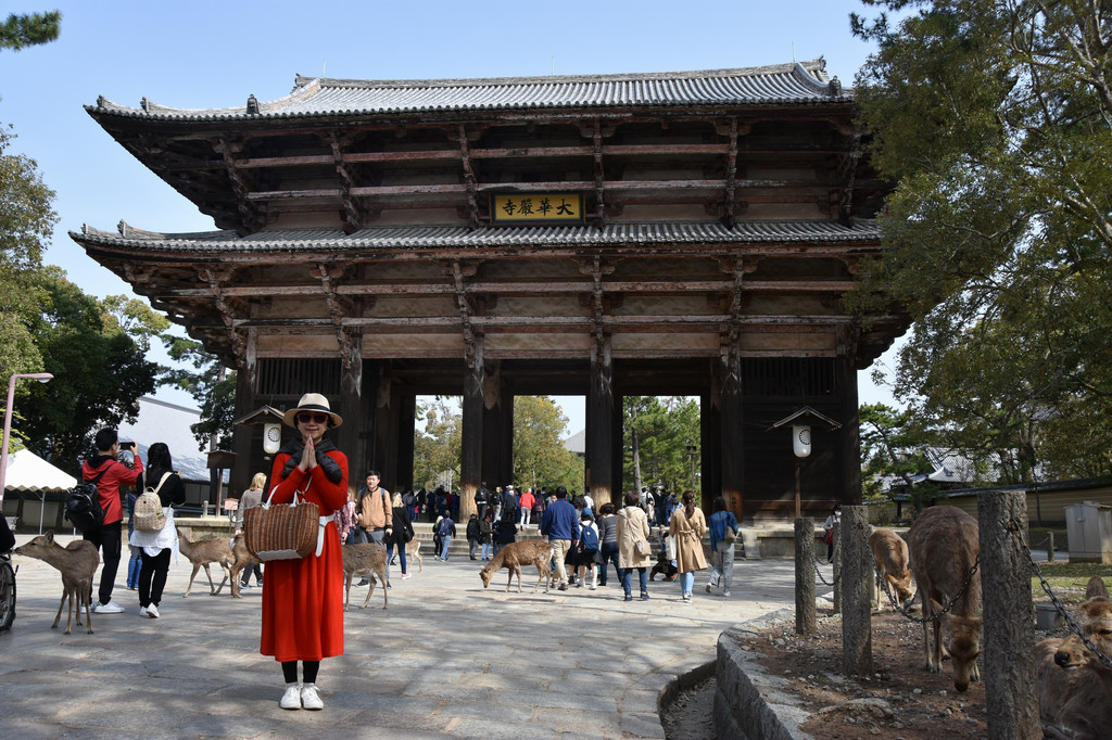
[[[210,597],[201,571],[183,599],[182,557],[161,618],[139,617],[137,592],[122,586],[125,550],[113,600],[127,612],[93,614],[93,634],[67,636],[64,614],[50,629],[58,571],[13,556],[19,598],[12,629],[0,632],[0,727],[21,739],[662,738],[662,689],[714,660],[725,629],[794,604],[792,560],[738,559],[729,599],[707,596],[698,573],[684,604],[678,583],[659,580],[651,600],[626,603],[613,574],[596,591],[530,594],[535,571],[524,593],[516,584],[506,593],[503,570],[484,590],[481,561],[423,554],[424,572],[411,567],[409,580],[391,568],[386,610],[381,590],[364,610],[366,589],[351,589],[346,652],[321,663],[317,712],[278,707],[281,669],[258,652],[258,589]]]

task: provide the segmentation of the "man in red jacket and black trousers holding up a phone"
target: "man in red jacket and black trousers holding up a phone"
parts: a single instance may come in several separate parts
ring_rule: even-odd
[[[135,486],[142,474],[142,460],[136,453],[135,442],[128,442],[128,451],[135,454],[135,467],[128,468],[116,459],[120,453],[120,438],[115,429],[101,429],[95,438],[97,454],[81,464],[81,478],[92,480],[101,472],[97,481],[97,494],[100,508],[105,512],[105,523],[99,529],[83,533],[86,540],[101,549],[105,567],[100,571],[99,602],[92,610],[98,614],[119,614],[123,607],[112,601],[112,586],[116,583],[116,570],[120,564],[122,549],[123,507],[120,503],[120,483]]]

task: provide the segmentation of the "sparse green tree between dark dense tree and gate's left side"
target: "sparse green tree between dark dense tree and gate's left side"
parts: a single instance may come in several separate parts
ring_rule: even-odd
[[[167,354],[179,366],[188,367],[159,368],[159,383],[187,391],[197,401],[201,417],[189,430],[198,450],[230,450],[236,420],[236,371],[227,371],[219,358],[206,352],[200,342],[166,332],[167,326],[168,322],[158,336]]]

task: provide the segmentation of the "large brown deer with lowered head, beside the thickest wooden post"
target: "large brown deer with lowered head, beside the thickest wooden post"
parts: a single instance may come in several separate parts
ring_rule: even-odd
[[[931,507],[907,532],[915,580],[923,602],[924,666],[942,672],[941,613],[950,626],[949,652],[954,667],[954,688],[965,691],[981,680],[976,659],[981,652],[981,573],[974,572],[981,554],[976,520],[956,507]],[[927,631],[933,627],[933,646]]]

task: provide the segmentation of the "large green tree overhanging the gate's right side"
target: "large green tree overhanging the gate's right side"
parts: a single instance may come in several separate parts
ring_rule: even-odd
[[[895,391],[1006,482],[1112,470],[1112,4],[864,0],[856,97],[897,181],[860,308],[906,307]]]

